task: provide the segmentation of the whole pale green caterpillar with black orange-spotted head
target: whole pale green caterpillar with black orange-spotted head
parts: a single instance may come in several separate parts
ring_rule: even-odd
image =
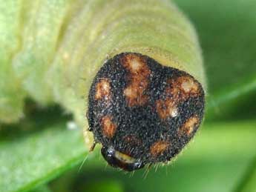
[[[197,132],[203,59],[171,1],[1,0],[0,10],[0,122],[18,122],[27,97],[58,103],[125,171],[169,162]]]

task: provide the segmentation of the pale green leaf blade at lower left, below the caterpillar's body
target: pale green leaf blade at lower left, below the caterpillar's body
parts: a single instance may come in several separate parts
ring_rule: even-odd
[[[69,130],[68,119],[58,119],[50,112],[24,121],[19,134],[15,127],[1,130],[0,191],[27,191],[85,157],[82,130]]]

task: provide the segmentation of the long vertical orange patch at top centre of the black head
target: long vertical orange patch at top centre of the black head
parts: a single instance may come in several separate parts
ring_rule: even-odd
[[[148,96],[145,90],[149,84],[151,71],[143,56],[129,53],[120,59],[120,62],[128,70],[128,86],[124,90],[124,95],[129,107],[135,105],[145,105]]]

